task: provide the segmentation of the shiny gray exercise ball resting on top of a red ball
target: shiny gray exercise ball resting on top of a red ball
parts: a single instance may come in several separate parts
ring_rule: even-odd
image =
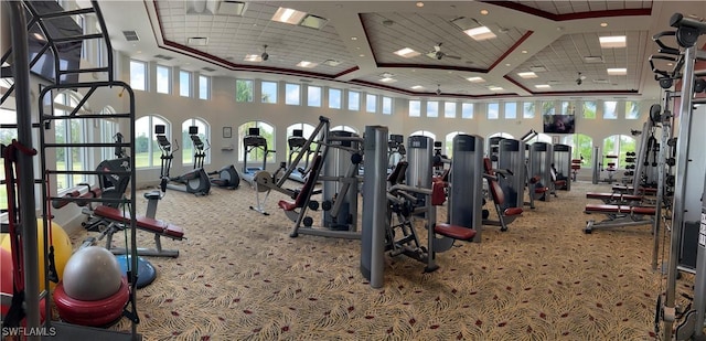
[[[64,267],[64,291],[77,300],[101,300],[120,289],[121,274],[118,260],[109,251],[88,246],[68,258]]]

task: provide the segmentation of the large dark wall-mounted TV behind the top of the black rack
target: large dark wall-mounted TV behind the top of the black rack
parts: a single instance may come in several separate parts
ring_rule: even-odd
[[[63,12],[64,9],[56,1],[26,1],[38,13]],[[28,18],[31,18],[28,11]],[[52,39],[64,39],[68,36],[77,36],[83,34],[83,29],[72,19],[72,17],[58,17],[43,19],[47,34]],[[42,33],[38,23],[34,23],[28,31],[28,50],[30,62],[42,52],[46,44],[46,38]],[[81,66],[82,41],[66,41],[55,43],[57,55],[51,49],[42,53],[40,58],[32,65],[30,72],[40,77],[56,83],[56,58],[58,58],[58,68],[62,71],[78,70]],[[62,74],[58,83],[78,83],[78,74]]]

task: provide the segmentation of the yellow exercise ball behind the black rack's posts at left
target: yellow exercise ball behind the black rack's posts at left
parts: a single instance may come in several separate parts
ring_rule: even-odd
[[[36,220],[36,245],[39,247],[39,257],[40,257],[40,290],[44,290],[44,222],[42,219]],[[64,274],[64,267],[66,266],[66,262],[71,257],[74,247],[71,244],[71,238],[62,228],[61,225],[52,222],[51,228],[51,241],[50,246],[54,246],[54,266],[56,267],[56,274],[58,275],[58,279],[62,279],[62,275]],[[0,244],[0,248],[11,252],[10,246],[10,237],[7,236],[2,239],[2,244]],[[50,281],[50,289],[53,290],[56,286],[55,283]]]

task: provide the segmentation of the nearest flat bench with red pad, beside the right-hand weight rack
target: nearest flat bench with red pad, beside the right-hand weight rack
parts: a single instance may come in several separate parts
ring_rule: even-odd
[[[593,220],[586,222],[586,228],[584,228],[584,232],[589,234],[595,228],[629,227],[652,224],[652,220],[656,214],[656,209],[651,206],[587,204],[584,212],[587,214],[600,213],[607,216],[606,220],[598,223]]]

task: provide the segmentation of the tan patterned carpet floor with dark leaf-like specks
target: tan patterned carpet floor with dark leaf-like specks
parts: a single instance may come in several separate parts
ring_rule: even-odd
[[[602,219],[584,213],[587,191],[610,188],[574,183],[507,232],[485,227],[481,243],[437,254],[431,274],[387,257],[382,289],[360,274],[360,241],[290,238],[282,194],[270,195],[265,216],[248,209],[246,183],[204,198],[171,191],[158,219],[188,239],[163,242],[178,258],[149,258],[158,278],[137,292],[138,331],[146,340],[653,339],[664,285],[651,269],[650,225],[585,234],[588,219]]]

